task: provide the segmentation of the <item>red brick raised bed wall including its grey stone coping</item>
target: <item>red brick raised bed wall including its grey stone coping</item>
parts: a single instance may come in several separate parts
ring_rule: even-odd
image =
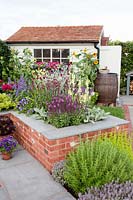
[[[2,114],[2,113],[1,113]],[[57,129],[33,117],[6,113],[16,126],[15,137],[40,163],[51,171],[55,162],[65,158],[80,138],[92,139],[105,132],[127,131],[128,121],[110,116],[95,124],[81,124]]]

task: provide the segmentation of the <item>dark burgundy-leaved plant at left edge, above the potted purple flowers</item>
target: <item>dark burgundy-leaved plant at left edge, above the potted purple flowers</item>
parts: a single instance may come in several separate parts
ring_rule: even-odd
[[[0,136],[12,134],[15,131],[13,121],[8,117],[0,116]]]

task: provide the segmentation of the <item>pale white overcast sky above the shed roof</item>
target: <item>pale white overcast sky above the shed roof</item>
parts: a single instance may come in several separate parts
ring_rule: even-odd
[[[103,25],[111,40],[133,41],[133,0],[0,0],[0,39],[22,26]]]

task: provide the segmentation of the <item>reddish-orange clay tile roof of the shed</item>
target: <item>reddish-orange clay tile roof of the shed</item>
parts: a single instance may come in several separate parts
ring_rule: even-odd
[[[98,42],[102,33],[103,26],[22,27],[6,42]]]

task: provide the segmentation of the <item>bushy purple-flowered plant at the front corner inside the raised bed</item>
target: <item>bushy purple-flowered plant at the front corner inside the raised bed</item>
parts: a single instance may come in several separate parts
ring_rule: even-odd
[[[48,122],[57,128],[79,125],[83,122],[84,108],[71,95],[53,97],[47,104]]]

